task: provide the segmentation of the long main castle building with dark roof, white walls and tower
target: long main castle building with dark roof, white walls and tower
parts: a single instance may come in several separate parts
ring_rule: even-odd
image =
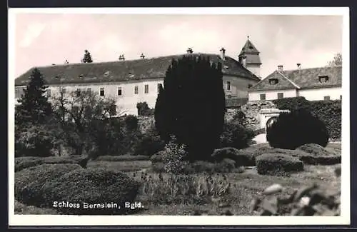
[[[248,44],[248,45],[247,45]],[[253,49],[251,49],[253,47]],[[93,62],[79,64],[65,64],[36,67],[44,76],[49,100],[58,96],[60,89],[66,93],[81,91],[95,91],[99,96],[109,96],[116,99],[116,111],[137,115],[136,104],[146,102],[154,108],[159,93],[159,86],[164,84],[164,76],[172,59],[181,56],[208,56],[212,62],[222,64],[223,89],[226,100],[240,102],[248,101],[248,88],[260,81],[258,78],[260,59],[256,48],[247,41],[238,60],[226,56],[226,49],[222,48],[218,54],[194,53],[187,49],[186,54],[146,58],[144,54],[139,59],[109,62]],[[245,57],[243,59],[242,57]],[[258,65],[259,63],[259,65]],[[35,67],[34,67],[35,68]],[[23,90],[29,83],[34,68],[15,79],[15,98],[21,97]]]

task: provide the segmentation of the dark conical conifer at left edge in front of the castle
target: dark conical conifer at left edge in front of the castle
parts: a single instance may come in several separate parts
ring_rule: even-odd
[[[39,69],[34,69],[29,84],[16,106],[16,124],[41,124],[51,115],[51,104],[45,96],[47,86]]]

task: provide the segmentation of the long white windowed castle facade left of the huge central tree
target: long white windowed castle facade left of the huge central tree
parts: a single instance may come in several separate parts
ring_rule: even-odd
[[[134,114],[137,115],[136,104],[144,102],[150,108],[154,108],[156,104],[157,95],[159,94],[159,84],[164,84],[164,79],[147,79],[141,81],[126,81],[113,83],[90,83],[90,84],[63,84],[63,85],[49,85],[48,90],[51,92],[51,97],[59,96],[60,87],[66,89],[66,93],[71,93],[77,89],[81,91],[91,91],[101,94],[101,88],[104,88],[104,97],[116,99],[116,111],[118,114]],[[16,89],[24,89],[24,86],[16,86]],[[121,95],[119,95],[121,89]],[[137,91],[136,91],[137,89]],[[16,96],[16,104],[19,94]]]

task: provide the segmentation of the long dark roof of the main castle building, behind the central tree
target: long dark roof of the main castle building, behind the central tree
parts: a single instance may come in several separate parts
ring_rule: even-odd
[[[209,56],[211,61],[215,63],[218,61],[222,62],[223,74],[241,76],[256,81],[260,80],[238,61],[229,56],[226,56],[226,60],[223,61],[216,54],[189,54],[189,56],[198,55]],[[183,55],[100,63],[61,64],[38,67],[38,69],[43,74],[46,84],[80,84],[159,79],[164,78],[172,59],[178,59],[181,56]],[[29,69],[29,71],[26,71],[26,73],[15,79],[15,86],[26,85],[33,69]]]

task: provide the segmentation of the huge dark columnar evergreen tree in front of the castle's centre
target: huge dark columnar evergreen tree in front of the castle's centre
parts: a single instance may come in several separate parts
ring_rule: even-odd
[[[219,146],[226,112],[221,63],[183,56],[166,71],[155,106],[156,128],[167,143],[176,136],[191,160],[208,160]]]

